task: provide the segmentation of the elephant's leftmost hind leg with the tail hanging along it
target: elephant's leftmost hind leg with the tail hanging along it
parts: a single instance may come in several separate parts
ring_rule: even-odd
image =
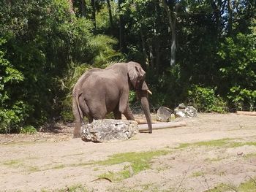
[[[75,129],[74,129],[74,137],[80,137],[80,127],[83,123],[83,112],[80,108],[78,101],[78,93],[75,93],[75,88],[72,94],[72,110],[75,116]]]

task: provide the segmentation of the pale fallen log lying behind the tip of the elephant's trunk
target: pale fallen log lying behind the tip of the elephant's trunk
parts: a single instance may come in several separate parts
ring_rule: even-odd
[[[141,124],[139,126],[139,131],[148,131],[148,125]],[[152,124],[153,129],[162,129],[162,128],[174,128],[174,127],[181,127],[187,126],[186,122],[167,122],[167,123],[156,123]]]

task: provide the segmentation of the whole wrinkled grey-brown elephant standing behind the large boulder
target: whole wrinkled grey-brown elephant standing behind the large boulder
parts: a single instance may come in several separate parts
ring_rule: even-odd
[[[146,115],[148,132],[152,133],[145,75],[140,64],[135,62],[118,63],[106,69],[94,68],[85,72],[72,92],[74,137],[80,137],[84,116],[89,119],[89,123],[94,119],[104,119],[110,112],[113,112],[115,119],[121,119],[121,114],[124,114],[127,120],[135,120],[128,104],[130,89],[136,91]]]

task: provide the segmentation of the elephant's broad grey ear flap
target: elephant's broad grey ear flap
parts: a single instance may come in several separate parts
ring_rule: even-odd
[[[140,64],[137,64],[135,62],[129,62],[128,63],[128,75],[129,80],[132,82],[132,86],[134,88],[138,87],[138,80],[143,80],[145,77],[146,72],[142,69]]]

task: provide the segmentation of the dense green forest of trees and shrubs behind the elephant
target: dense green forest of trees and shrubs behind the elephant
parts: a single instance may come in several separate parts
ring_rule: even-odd
[[[151,107],[255,110],[255,46],[255,0],[3,0],[0,131],[72,120],[80,74],[116,61],[143,66]]]

